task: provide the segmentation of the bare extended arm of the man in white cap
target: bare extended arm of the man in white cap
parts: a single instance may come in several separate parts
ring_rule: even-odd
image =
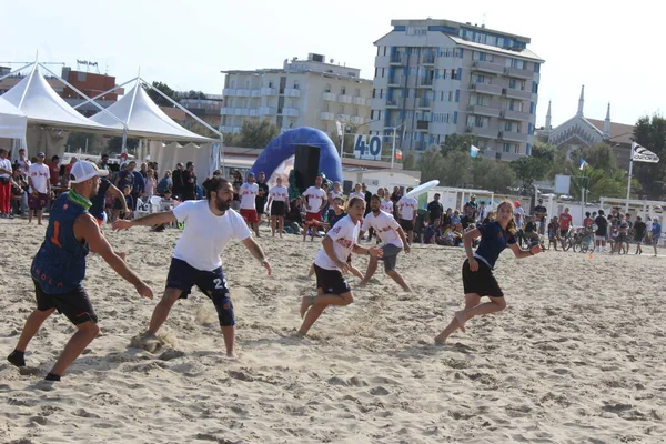
[[[90,250],[98,253],[122,279],[134,285],[137,293],[143,297],[152,299],[152,290],[139,278],[111,248],[107,238],[102,235],[100,226],[93,216],[83,214],[74,223],[77,239],[85,240]]]

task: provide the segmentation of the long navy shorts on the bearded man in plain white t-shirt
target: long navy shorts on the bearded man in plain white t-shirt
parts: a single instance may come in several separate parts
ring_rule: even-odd
[[[198,270],[180,259],[171,258],[169,275],[167,276],[167,289],[182,290],[181,299],[186,299],[192,292],[192,286],[196,285],[199,290],[213,301],[218,311],[220,325],[235,325],[233,304],[226,287],[226,279],[222,268],[213,271]]]

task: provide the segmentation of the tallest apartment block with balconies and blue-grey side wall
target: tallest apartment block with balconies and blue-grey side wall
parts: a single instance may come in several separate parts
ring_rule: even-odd
[[[371,132],[397,128],[423,151],[473,134],[484,157],[512,161],[534,143],[539,70],[529,38],[450,20],[392,20],[374,44]]]

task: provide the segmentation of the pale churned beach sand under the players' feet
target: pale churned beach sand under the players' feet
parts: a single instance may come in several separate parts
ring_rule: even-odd
[[[0,221],[0,351],[14,346],[34,306],[31,258],[44,228]],[[154,353],[130,346],[157,301],[139,297],[99,256],[88,289],[102,326],[59,384],[44,384],[73,327],[47,320],[24,371],[0,363],[2,443],[615,443],[664,442],[664,258],[546,252],[501,256],[506,311],[436,335],[463,305],[461,249],[415,245],[355,303],[329,309],[294,337],[320,240],[242,244],[223,255],[238,316],[238,361],[224,356],[212,303],[179,302]],[[163,289],[175,229],[108,233],[131,265]],[[354,263],[364,270],[366,258]],[[351,279],[352,286],[357,282]]]

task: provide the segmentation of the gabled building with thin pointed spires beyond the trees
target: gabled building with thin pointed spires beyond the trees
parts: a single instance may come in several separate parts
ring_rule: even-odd
[[[565,150],[567,153],[581,148],[592,147],[595,143],[607,143],[617,157],[618,167],[628,170],[634,125],[612,122],[610,103],[606,109],[605,120],[586,118],[583,113],[584,105],[585,85],[581,88],[576,114],[553,128],[551,124],[551,102],[548,102],[546,124],[543,129],[537,130],[537,138],[559,150]]]

